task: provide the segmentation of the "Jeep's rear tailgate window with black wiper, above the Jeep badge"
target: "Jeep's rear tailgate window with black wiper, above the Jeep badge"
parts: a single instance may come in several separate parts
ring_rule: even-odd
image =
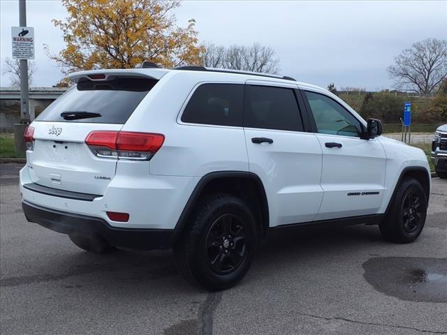
[[[49,105],[36,121],[124,124],[156,82],[129,77],[82,80]]]

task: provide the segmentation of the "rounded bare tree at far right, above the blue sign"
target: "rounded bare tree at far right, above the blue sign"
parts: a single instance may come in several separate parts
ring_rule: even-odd
[[[432,93],[447,77],[447,40],[427,38],[414,43],[395,57],[395,65],[387,70],[397,89]]]

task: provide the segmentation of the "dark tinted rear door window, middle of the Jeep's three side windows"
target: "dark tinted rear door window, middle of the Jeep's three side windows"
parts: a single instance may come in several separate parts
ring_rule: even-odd
[[[302,131],[302,120],[293,89],[248,86],[244,126]]]

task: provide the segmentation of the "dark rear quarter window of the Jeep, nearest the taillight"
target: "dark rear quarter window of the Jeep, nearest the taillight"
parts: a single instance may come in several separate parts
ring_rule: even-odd
[[[194,91],[182,114],[191,124],[242,126],[244,85],[203,84]]]

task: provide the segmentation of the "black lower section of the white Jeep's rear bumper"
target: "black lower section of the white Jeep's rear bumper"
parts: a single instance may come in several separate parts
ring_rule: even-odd
[[[111,246],[127,248],[167,249],[171,248],[179,235],[179,230],[115,228],[102,218],[56,211],[22,202],[28,221],[45,228],[82,237],[101,236]]]

